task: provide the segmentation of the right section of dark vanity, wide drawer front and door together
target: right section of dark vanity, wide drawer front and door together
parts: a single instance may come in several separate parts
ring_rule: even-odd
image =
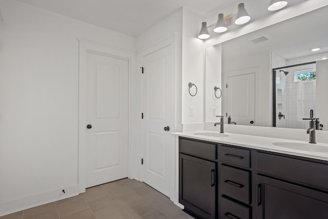
[[[257,219],[328,218],[328,165],[256,153]]]

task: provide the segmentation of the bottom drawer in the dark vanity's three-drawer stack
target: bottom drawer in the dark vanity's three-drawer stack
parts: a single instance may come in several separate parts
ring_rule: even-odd
[[[221,219],[250,219],[250,209],[221,197]]]

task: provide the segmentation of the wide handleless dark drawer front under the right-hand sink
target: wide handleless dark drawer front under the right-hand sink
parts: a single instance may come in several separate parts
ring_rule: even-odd
[[[328,165],[326,164],[257,152],[256,170],[328,189]]]

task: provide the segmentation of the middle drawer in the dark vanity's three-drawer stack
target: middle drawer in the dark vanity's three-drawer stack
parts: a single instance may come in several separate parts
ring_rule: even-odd
[[[220,166],[221,193],[250,204],[250,172]]]

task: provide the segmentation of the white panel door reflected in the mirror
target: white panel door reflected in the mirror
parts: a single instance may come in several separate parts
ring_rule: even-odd
[[[255,125],[255,73],[227,78],[227,114],[237,125]]]

